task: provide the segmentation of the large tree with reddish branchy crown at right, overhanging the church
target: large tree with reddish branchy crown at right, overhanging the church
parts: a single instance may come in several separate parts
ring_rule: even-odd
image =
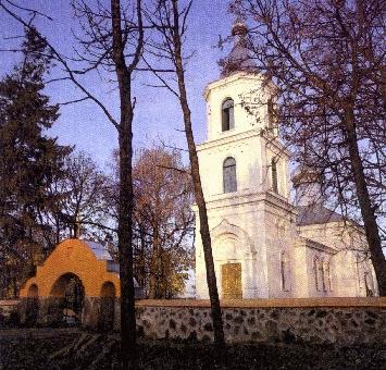
[[[385,296],[385,2],[234,0],[231,11],[250,22],[249,48],[275,85],[295,159],[319,172],[344,213],[360,210]]]

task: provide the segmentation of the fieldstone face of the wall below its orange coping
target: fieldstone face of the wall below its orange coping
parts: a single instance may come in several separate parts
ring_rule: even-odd
[[[386,340],[385,311],[352,308],[226,308],[227,342],[375,344]],[[151,338],[213,340],[208,308],[138,307],[137,326]]]

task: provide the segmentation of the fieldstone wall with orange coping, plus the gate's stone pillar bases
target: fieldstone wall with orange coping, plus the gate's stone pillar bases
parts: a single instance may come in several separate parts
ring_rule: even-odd
[[[101,299],[85,298],[82,325],[100,329],[110,320],[110,329],[119,330],[119,301],[107,321]],[[39,303],[40,325],[52,324],[60,314],[52,298],[46,300]],[[386,298],[240,299],[221,305],[229,343],[386,344]],[[213,340],[208,300],[139,300],[136,314],[139,335],[149,338]]]

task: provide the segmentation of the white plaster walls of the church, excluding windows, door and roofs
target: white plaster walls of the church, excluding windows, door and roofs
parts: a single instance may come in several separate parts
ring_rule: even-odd
[[[198,146],[200,175],[207,201],[212,249],[222,296],[221,266],[240,262],[242,297],[328,297],[364,296],[356,275],[358,266],[349,247],[366,247],[360,232],[348,232],[341,223],[296,227],[289,197],[289,153],[278,140],[266,136],[266,100],[261,77],[237,73],[210,84],[208,103],[208,140]],[[226,98],[235,102],[235,128],[222,132],[221,108]],[[246,110],[246,104],[252,111]],[[236,160],[237,192],[223,193],[223,163]],[[277,162],[278,195],[272,192],[272,158]],[[208,298],[204,256],[196,211],[196,294]],[[302,236],[327,248],[314,248]],[[283,289],[281,252],[289,263],[289,289]],[[332,288],[315,286],[314,258],[329,261]],[[359,266],[360,275],[371,266]],[[326,282],[327,285],[327,282]],[[375,282],[373,284],[375,286]]]

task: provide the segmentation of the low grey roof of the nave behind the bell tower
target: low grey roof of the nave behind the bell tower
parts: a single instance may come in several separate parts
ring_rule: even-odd
[[[296,224],[298,226],[339,222],[345,220],[341,214],[332,211],[321,203],[297,207],[297,211],[298,215],[296,217]]]

